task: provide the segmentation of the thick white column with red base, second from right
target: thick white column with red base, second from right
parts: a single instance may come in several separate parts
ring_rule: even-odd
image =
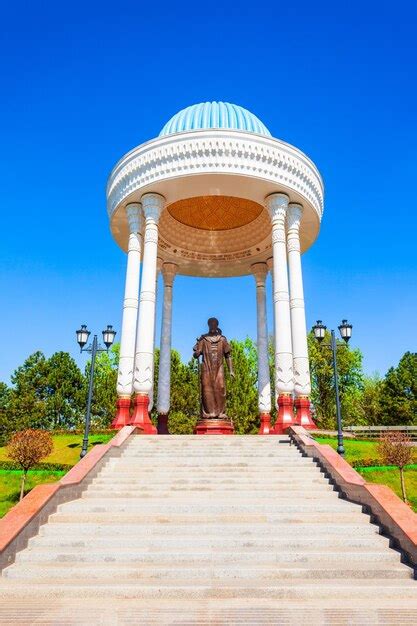
[[[288,426],[294,423],[293,356],[285,232],[288,200],[288,196],[283,193],[274,193],[266,198],[266,206],[272,221],[274,267],[275,391],[278,399],[278,416],[274,427],[276,434],[283,433]]]

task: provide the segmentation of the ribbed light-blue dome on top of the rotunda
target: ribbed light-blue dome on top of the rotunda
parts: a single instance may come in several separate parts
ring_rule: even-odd
[[[182,133],[187,130],[200,130],[206,128],[232,128],[243,130],[248,133],[257,133],[271,137],[267,127],[262,124],[256,115],[237,104],[229,102],[201,102],[193,104],[165,124],[160,137]]]

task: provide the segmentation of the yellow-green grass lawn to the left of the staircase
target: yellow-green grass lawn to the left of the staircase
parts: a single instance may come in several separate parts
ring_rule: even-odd
[[[114,435],[91,435],[89,450],[95,445],[107,443]],[[80,459],[83,436],[80,434],[53,435],[54,449],[43,459],[45,463],[62,463],[75,465]],[[0,461],[10,461],[6,455],[6,448],[0,447]],[[53,483],[59,480],[65,472],[52,470],[31,470],[26,480],[25,494],[33,487],[42,483]],[[0,469],[0,517],[3,517],[12,506],[19,501],[20,479],[22,473],[18,470]]]

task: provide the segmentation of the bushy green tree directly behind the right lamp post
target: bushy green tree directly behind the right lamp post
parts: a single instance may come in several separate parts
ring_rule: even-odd
[[[326,332],[320,344],[311,332],[308,336],[308,351],[311,371],[311,400],[314,404],[318,425],[322,428],[335,428],[336,404],[333,378],[330,332]],[[339,391],[345,424],[358,419],[358,391],[363,388],[362,353],[357,348],[351,350],[344,341],[337,341],[337,367]]]

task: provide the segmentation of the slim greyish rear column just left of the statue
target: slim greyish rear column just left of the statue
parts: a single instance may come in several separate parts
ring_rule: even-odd
[[[162,277],[164,279],[164,300],[161,322],[161,348],[159,353],[158,376],[158,434],[168,435],[168,413],[171,396],[171,336],[172,336],[172,288],[178,266],[175,263],[164,263]]]

